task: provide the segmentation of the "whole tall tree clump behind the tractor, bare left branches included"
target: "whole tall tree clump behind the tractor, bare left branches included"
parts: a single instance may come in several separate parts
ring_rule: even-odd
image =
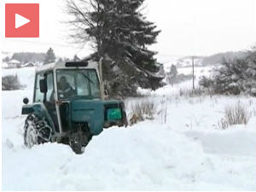
[[[133,96],[137,86],[160,87],[162,65],[156,52],[147,48],[156,43],[160,31],[141,14],[144,0],[67,0],[73,20],[75,42],[90,40],[95,53],[88,59],[103,58],[103,79],[113,96]]]

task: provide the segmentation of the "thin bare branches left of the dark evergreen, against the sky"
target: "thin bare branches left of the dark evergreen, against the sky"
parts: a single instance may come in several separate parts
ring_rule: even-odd
[[[78,44],[90,41],[99,58],[103,56],[103,22],[98,15],[103,15],[104,9],[101,0],[67,0],[67,13],[73,16],[68,20],[72,27],[70,37]]]

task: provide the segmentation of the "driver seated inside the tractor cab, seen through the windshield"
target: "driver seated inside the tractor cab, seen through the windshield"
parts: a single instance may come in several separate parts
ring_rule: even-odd
[[[59,96],[61,99],[67,99],[71,96],[76,96],[76,91],[67,82],[66,77],[61,76],[61,79],[60,79],[58,85],[59,85]]]

